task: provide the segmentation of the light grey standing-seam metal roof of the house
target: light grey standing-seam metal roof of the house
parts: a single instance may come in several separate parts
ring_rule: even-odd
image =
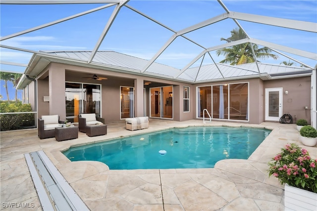
[[[57,51],[46,52],[51,55],[56,55],[63,58],[73,58],[80,61],[87,61],[91,55],[91,51]],[[141,73],[142,68],[149,61],[146,59],[114,52],[114,51],[97,51],[91,64],[107,65],[116,68],[124,68],[127,71]],[[259,67],[259,71],[258,71]],[[201,83],[207,81],[218,81],[226,79],[237,79],[247,77],[260,77],[261,75],[281,74],[293,75],[293,73],[303,74],[311,73],[305,72],[311,70],[307,67],[272,65],[265,63],[248,63],[243,65],[227,65],[227,64],[211,64],[201,67],[188,68],[185,72],[169,67],[167,65],[154,62],[144,73],[151,73],[156,76],[168,77],[177,80],[183,80],[190,83]],[[175,77],[177,76],[177,77]]]

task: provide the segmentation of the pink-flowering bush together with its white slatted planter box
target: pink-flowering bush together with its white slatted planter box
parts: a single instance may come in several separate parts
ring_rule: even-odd
[[[269,176],[285,184],[285,210],[317,210],[317,159],[292,143],[282,148],[268,165]]]

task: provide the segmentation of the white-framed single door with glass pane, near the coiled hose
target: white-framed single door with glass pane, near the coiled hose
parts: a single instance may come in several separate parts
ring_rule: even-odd
[[[265,121],[279,121],[283,111],[283,88],[265,89]]]

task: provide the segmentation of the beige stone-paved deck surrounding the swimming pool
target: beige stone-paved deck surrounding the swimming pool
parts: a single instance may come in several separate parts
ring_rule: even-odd
[[[100,162],[70,162],[60,151],[170,127],[229,126],[273,129],[248,160],[222,160],[213,169],[109,170]],[[283,186],[268,177],[267,163],[287,143],[303,146],[296,125],[260,125],[150,119],[147,129],[130,131],[124,122],[107,124],[107,135],[56,141],[39,139],[37,129],[0,132],[1,210],[42,210],[24,153],[43,150],[92,211],[283,211]],[[10,204],[11,203],[11,204]],[[12,204],[15,203],[15,204]],[[28,208],[18,207],[27,205]],[[11,206],[8,207],[8,205]]]

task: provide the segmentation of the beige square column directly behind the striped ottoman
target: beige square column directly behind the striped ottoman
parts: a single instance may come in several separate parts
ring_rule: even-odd
[[[134,80],[134,116],[144,116],[144,80]]]

